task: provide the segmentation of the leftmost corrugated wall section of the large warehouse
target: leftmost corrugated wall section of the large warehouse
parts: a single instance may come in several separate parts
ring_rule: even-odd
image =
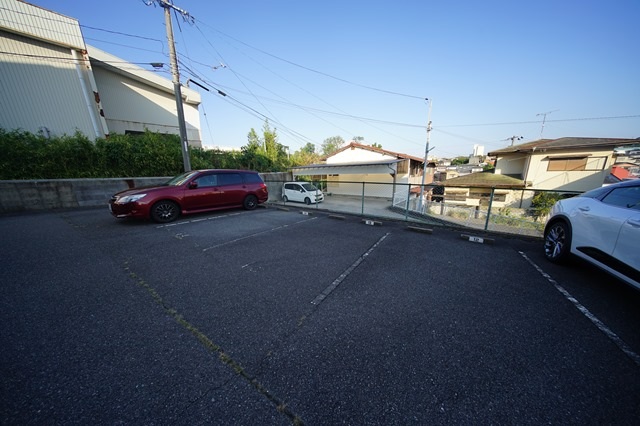
[[[71,49],[0,30],[0,127],[95,135]]]

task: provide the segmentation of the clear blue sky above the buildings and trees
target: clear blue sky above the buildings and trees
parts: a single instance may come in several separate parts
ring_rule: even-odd
[[[169,63],[160,7],[30,3],[78,19],[87,43],[146,69]],[[195,18],[174,19],[181,80],[212,88],[192,86],[205,145],[245,145],[268,117],[291,152],[361,136],[423,156],[425,98],[437,157],[538,139],[542,113],[545,138],[640,137],[637,0],[174,3]],[[168,66],[161,74],[171,78]]]

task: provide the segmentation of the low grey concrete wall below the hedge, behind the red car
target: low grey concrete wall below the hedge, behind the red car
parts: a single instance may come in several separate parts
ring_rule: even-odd
[[[269,201],[280,200],[282,183],[291,173],[261,173]],[[109,198],[128,188],[159,185],[171,177],[48,179],[0,181],[0,213],[107,206]]]

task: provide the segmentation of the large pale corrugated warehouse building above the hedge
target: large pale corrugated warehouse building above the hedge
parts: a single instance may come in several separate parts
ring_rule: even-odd
[[[85,43],[79,22],[0,0],[0,127],[90,139],[179,134],[173,83]],[[189,145],[202,146],[200,94],[182,87]]]

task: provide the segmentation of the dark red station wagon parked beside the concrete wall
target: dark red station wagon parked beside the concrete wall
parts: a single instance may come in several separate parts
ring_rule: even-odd
[[[253,210],[269,198],[257,172],[248,170],[195,170],[160,186],[127,189],[109,200],[117,218],[151,218],[166,223],[181,214],[244,207]]]

